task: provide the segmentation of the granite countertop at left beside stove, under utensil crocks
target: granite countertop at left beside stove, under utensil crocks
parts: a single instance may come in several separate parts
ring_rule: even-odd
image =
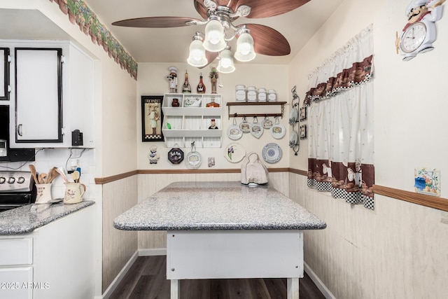
[[[93,200],[83,200],[78,204],[27,204],[23,207],[0,213],[0,235],[19,235],[32,232],[36,228],[84,209],[94,204]]]

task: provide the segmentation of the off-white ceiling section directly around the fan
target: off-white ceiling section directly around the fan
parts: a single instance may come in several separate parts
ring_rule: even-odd
[[[205,25],[176,28],[131,28],[112,26],[118,20],[175,16],[201,19],[193,0],[84,0],[99,20],[137,62],[186,62],[188,47],[195,32],[204,32]],[[275,0],[272,0],[275,2]],[[294,1],[294,0],[291,0]],[[272,57],[257,55],[253,64],[288,64],[332,15],[344,0],[311,0],[307,4],[271,18],[238,18],[234,25],[255,23],[266,25],[283,34],[290,43],[290,55]],[[232,44],[231,44],[232,46]],[[235,48],[233,46],[232,48]],[[244,62],[247,63],[247,62]]]

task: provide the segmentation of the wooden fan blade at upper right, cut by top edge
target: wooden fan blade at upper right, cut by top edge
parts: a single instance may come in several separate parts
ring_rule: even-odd
[[[293,11],[295,8],[300,7],[309,1],[310,0],[237,0],[235,5],[240,6],[244,4],[251,6],[251,13],[249,13],[246,18],[256,19],[288,13],[288,11]]]

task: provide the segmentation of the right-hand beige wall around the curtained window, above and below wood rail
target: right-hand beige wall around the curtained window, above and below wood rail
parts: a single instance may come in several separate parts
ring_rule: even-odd
[[[435,49],[402,62],[395,31],[409,0],[346,0],[290,64],[290,78],[307,89],[307,75],[367,25],[374,32],[375,183],[414,191],[414,167],[439,167],[447,198],[448,18],[437,22]],[[307,169],[307,139],[290,167]],[[290,174],[290,197],[324,221],[305,232],[304,259],[336,298],[446,298],[448,213],[375,195],[375,210],[307,188]]]

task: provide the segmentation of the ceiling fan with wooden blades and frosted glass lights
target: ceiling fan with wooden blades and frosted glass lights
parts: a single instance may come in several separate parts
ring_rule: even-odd
[[[309,0],[193,0],[197,13],[199,13],[204,20],[187,17],[148,17],[120,20],[118,22],[113,22],[112,25],[144,28],[207,25],[205,36],[200,32],[197,32],[196,35],[193,36],[193,43],[195,43],[195,41],[199,41],[197,43],[202,43],[204,40],[204,57],[201,58],[202,60],[200,62],[200,58],[197,58],[198,63],[193,64],[196,67],[202,68],[215,60],[219,53],[221,53],[222,58],[225,56],[225,51],[229,50],[230,52],[228,41],[235,39],[237,36],[239,36],[237,38],[238,40],[244,40],[249,44],[251,43],[251,49],[253,49],[254,52],[253,55],[247,55],[247,50],[244,55],[239,56],[241,60],[235,55],[237,60],[251,60],[255,57],[255,53],[270,56],[288,55],[290,53],[289,43],[286,38],[275,29],[259,24],[243,24],[235,26],[232,22],[240,17],[267,18],[281,15],[288,11],[293,11],[295,8],[298,8],[307,2],[309,2]],[[216,28],[218,23],[220,24],[218,27],[222,27],[222,29]],[[214,28],[210,29],[211,27]],[[223,40],[219,42],[218,40],[210,40],[213,39],[209,37],[212,36],[210,32],[213,32],[214,29],[221,30]],[[232,30],[231,33],[229,33],[230,29]],[[248,37],[249,35],[250,37]],[[241,39],[242,36],[244,36],[243,39]],[[190,46],[190,56],[192,55],[193,43]],[[239,53],[238,49],[237,53]]]

